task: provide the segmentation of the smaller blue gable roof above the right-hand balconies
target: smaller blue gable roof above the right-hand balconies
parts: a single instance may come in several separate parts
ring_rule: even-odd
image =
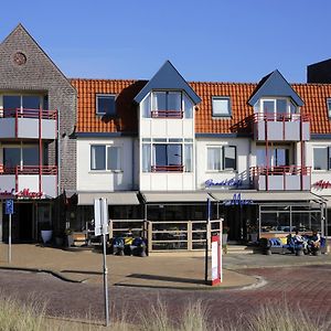
[[[303,106],[302,99],[277,70],[265,76],[259,82],[257,88],[253,93],[253,96],[248,100],[248,104],[254,106],[258,99],[265,96],[290,97],[297,106]]]

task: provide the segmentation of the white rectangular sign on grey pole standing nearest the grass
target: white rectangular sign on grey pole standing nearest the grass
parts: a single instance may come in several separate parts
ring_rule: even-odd
[[[107,199],[100,197],[94,200],[94,224],[95,224],[95,235],[103,236],[103,247],[104,247],[104,295],[105,295],[105,320],[106,327],[109,325],[109,303],[108,303],[108,269],[107,269],[107,234],[108,232],[108,204]]]

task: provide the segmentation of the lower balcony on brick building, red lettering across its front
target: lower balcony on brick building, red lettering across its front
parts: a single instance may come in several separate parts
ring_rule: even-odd
[[[55,197],[57,195],[56,166],[0,166],[0,196],[18,199]]]

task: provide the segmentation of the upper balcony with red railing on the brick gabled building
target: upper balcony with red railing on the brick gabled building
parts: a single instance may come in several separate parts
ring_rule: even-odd
[[[51,139],[57,138],[57,111],[44,109],[0,110],[0,139]]]

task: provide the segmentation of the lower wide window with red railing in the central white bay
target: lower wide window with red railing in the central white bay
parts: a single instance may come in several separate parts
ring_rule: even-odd
[[[193,140],[174,138],[142,139],[142,172],[193,171]]]

